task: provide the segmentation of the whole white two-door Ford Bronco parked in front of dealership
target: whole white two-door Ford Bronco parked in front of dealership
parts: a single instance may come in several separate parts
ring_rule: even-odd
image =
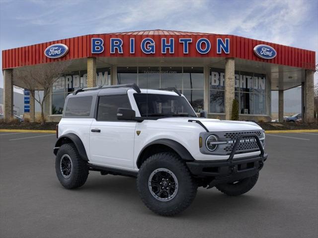
[[[89,171],[137,177],[142,201],[164,216],[187,208],[198,186],[230,196],[249,191],[267,159],[256,123],[198,118],[178,90],[136,84],[70,94],[57,137],[64,187],[82,186]]]

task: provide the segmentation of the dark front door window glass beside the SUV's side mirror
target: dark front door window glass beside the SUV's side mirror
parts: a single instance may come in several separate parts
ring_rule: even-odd
[[[131,108],[127,95],[101,96],[98,100],[97,120],[117,120],[118,108]]]

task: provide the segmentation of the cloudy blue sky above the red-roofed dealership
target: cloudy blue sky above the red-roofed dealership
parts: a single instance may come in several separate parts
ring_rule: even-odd
[[[316,51],[318,61],[317,12],[318,0],[0,0],[0,50],[86,34],[164,29],[303,48]]]

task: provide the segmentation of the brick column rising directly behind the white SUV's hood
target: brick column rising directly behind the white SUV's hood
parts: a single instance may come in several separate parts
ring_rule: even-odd
[[[225,61],[225,119],[230,120],[235,89],[235,60],[227,58]]]

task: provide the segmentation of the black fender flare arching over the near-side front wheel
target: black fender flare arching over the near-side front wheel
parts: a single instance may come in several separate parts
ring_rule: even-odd
[[[144,146],[144,148],[141,150],[141,152],[138,155],[138,159],[137,159],[137,167],[140,167],[140,160],[142,159],[142,155],[145,152],[145,150],[151,146],[151,145],[155,145],[155,144],[159,144],[159,145],[165,145],[167,147],[170,147],[172,150],[174,150],[180,157],[182,160],[186,160],[186,161],[193,161],[194,158],[193,156],[190,154],[190,152],[183,146],[181,145],[179,142],[175,141],[175,140],[171,140],[171,139],[158,139],[158,140],[154,140],[152,142],[150,142],[149,144],[147,144],[146,146]]]

